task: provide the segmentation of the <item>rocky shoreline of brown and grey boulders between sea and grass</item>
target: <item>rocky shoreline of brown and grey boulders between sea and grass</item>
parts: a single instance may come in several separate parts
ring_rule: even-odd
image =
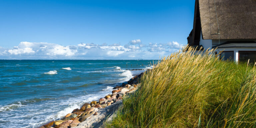
[[[50,121],[37,128],[90,128],[100,127],[122,104],[122,99],[133,93],[140,86],[139,78],[144,73],[134,76],[129,81],[113,88],[112,94],[100,98],[99,101],[85,103],[79,109],[74,109],[61,120]]]

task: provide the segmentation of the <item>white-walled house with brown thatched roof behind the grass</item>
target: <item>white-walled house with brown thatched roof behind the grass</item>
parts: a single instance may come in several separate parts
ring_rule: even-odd
[[[188,45],[220,58],[256,62],[256,0],[196,0]]]

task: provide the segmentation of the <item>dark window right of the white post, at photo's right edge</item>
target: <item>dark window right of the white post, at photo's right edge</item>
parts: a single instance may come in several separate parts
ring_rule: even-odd
[[[250,63],[256,62],[256,51],[238,51],[239,62],[246,62],[250,59]]]

